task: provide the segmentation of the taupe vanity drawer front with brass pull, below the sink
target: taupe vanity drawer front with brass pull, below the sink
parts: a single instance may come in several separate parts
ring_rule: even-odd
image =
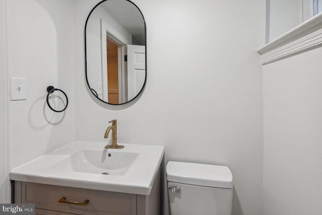
[[[58,202],[84,202],[87,205],[76,205]],[[22,202],[35,203],[36,208],[57,210],[77,214],[136,214],[136,195],[100,190],[90,190],[54,185],[22,182]]]

